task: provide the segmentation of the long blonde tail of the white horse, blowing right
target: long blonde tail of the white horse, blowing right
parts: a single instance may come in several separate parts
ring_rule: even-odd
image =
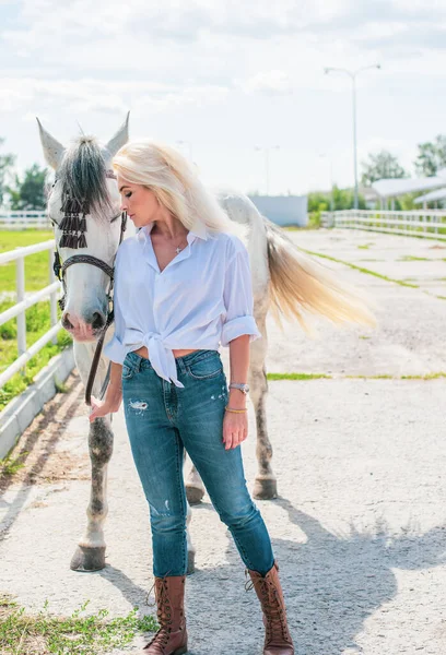
[[[283,229],[265,218],[272,315],[297,319],[312,332],[305,313],[321,315],[336,324],[376,325],[372,301],[364,293],[336,278],[336,272],[315,261],[289,239]]]

